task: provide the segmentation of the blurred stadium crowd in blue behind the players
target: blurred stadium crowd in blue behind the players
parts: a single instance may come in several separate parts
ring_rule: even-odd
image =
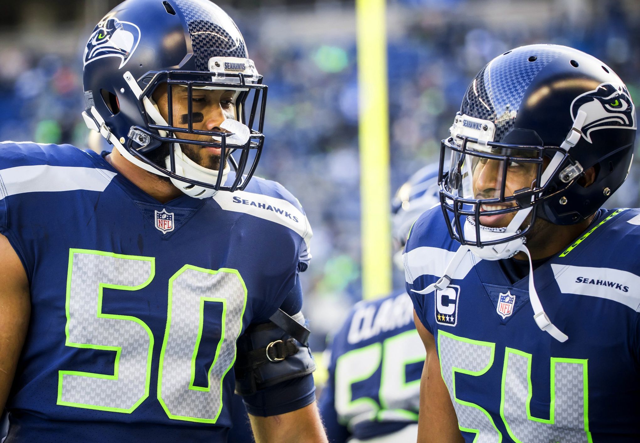
[[[116,3],[100,1],[84,17],[56,24],[41,12],[35,31],[20,19],[0,25],[0,140],[87,146],[81,53],[90,29]],[[321,350],[324,334],[360,299],[354,5],[218,4],[236,19],[269,85],[257,174],[289,188],[314,229],[305,312],[312,347]],[[388,0],[392,189],[436,160],[468,81],[511,47],[548,42],[586,51],[607,62],[640,100],[639,17],[633,0]],[[64,36],[60,44],[47,40],[49,31]],[[45,43],[38,46],[38,39]],[[635,165],[609,205],[637,206],[639,182]],[[403,278],[394,281],[401,287]]]

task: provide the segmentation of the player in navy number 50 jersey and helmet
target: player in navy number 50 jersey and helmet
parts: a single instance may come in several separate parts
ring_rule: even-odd
[[[0,144],[6,442],[325,442],[301,313],[311,229],[253,176],[262,85],[207,0],[127,0],[83,55],[114,146]],[[237,434],[235,434],[237,435]]]

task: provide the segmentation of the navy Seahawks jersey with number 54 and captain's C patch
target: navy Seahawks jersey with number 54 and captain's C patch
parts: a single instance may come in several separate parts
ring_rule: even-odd
[[[534,271],[540,301],[568,335],[541,331],[529,276],[511,283],[500,263],[468,252],[442,291],[459,244],[439,208],[413,226],[406,287],[433,333],[467,442],[640,441],[640,210],[600,210],[588,230]]]

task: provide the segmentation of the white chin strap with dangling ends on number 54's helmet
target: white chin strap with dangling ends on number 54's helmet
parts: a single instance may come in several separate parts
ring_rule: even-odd
[[[569,131],[568,135],[564,139],[564,142],[560,145],[564,151],[569,151],[570,148],[575,146],[577,142],[580,140],[582,133],[580,130],[582,129],[582,125],[584,125],[584,121],[586,120],[587,114],[584,111],[579,111],[575,117],[575,121],[573,122],[573,128]],[[547,169],[543,172],[540,183],[543,187],[545,187],[548,181],[551,179],[551,176],[554,171],[556,171],[557,167],[563,161],[564,155],[560,152],[556,152],[554,157],[551,159],[551,162],[547,165]],[[534,197],[531,197],[533,200]],[[506,228],[487,228],[486,226],[480,225],[480,239],[483,242],[489,242],[491,240],[498,240],[499,238],[507,238],[511,237],[514,233],[518,232],[520,226],[527,218],[527,215],[531,213],[532,207],[521,209],[516,212],[516,215],[511,219],[508,226]],[[465,233],[465,238],[468,240],[476,240],[476,226],[475,223],[470,221],[467,218],[465,222],[465,226],[463,228]],[[469,245],[461,245],[458,248],[458,251],[454,254],[451,262],[447,265],[447,268],[444,271],[444,276],[442,276],[438,281],[424,288],[423,290],[413,290],[417,294],[429,294],[435,290],[444,290],[451,283],[452,278],[450,277],[458,266],[462,262],[462,259],[467,255],[467,251],[472,251],[472,253],[476,254],[483,260],[504,260],[505,258],[511,258],[516,253],[522,251],[527,255],[529,259],[529,301],[531,301],[531,307],[533,308],[533,318],[538,325],[538,328],[547,332],[551,337],[558,340],[559,342],[566,342],[569,338],[564,334],[561,330],[559,330],[549,319],[547,313],[545,313],[542,304],[540,303],[540,297],[538,297],[538,292],[536,292],[536,287],[534,285],[533,279],[533,262],[531,260],[531,253],[529,253],[529,249],[525,246],[525,238],[515,238],[515,240],[510,240],[508,242],[495,244],[492,246],[469,246]]]

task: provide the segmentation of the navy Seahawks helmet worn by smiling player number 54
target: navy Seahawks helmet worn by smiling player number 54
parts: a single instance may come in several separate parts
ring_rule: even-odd
[[[449,233],[484,247],[524,238],[538,216],[560,225],[584,220],[627,178],[636,126],[627,87],[589,54],[539,44],[496,57],[469,85],[442,140],[438,180]],[[479,190],[485,165],[493,181]],[[591,167],[595,181],[584,187]],[[506,228],[481,222],[512,212]]]

